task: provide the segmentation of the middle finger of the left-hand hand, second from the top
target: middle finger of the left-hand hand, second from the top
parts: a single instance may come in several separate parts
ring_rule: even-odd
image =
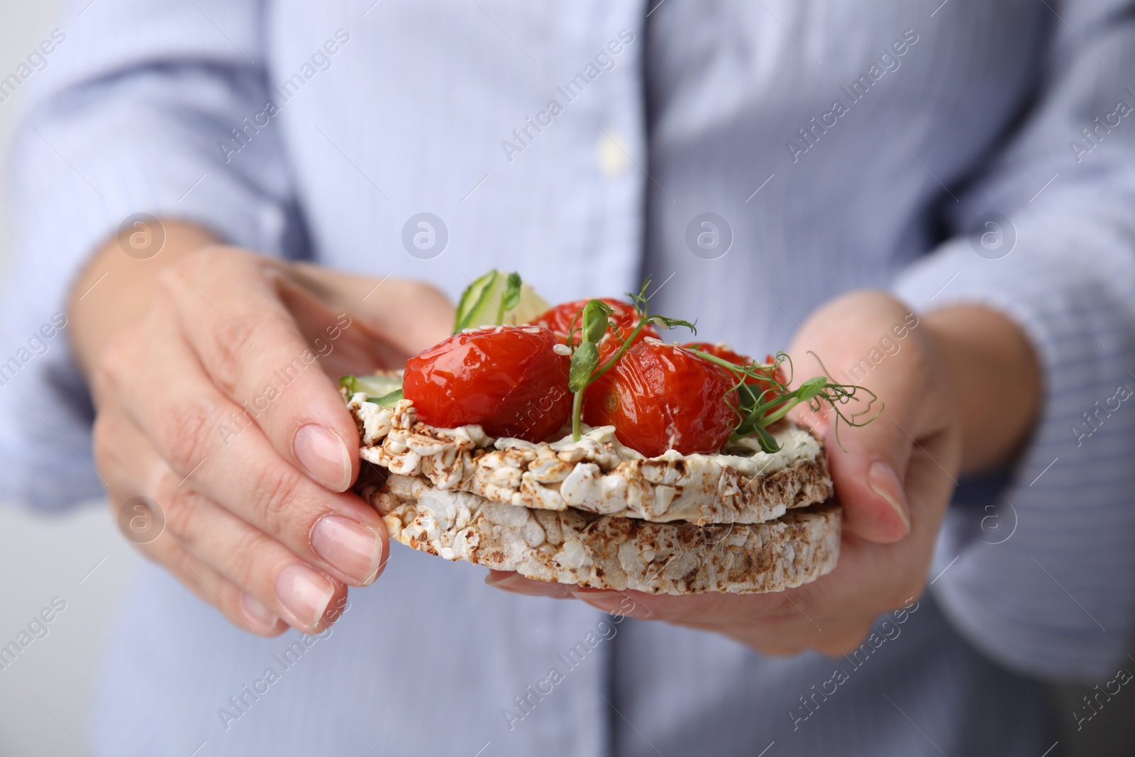
[[[128,363],[138,364],[138,363]],[[108,381],[179,486],[220,504],[293,554],[353,586],[372,582],[388,553],[386,527],[354,494],[329,493],[283,460],[258,427],[225,429],[235,406],[178,338],[152,344],[136,371]],[[151,387],[162,387],[154,392]]]

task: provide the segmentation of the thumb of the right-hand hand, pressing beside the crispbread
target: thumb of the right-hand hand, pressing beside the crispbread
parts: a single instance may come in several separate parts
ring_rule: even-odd
[[[876,544],[906,537],[911,511],[917,527],[932,514],[928,507],[944,506],[960,453],[949,371],[926,329],[914,331],[909,317],[907,305],[889,294],[849,293],[813,313],[790,350],[801,367],[843,377],[846,367],[855,367],[850,375],[864,378],[863,385],[856,381],[855,399],[838,405],[843,420],[826,403],[823,413],[796,411],[824,438],[846,530]],[[876,335],[889,338],[898,325],[906,329],[901,348],[886,350],[885,361],[873,356],[882,355],[884,343]],[[822,353],[810,355],[815,363],[807,361],[810,350]],[[863,426],[844,422],[852,413]]]

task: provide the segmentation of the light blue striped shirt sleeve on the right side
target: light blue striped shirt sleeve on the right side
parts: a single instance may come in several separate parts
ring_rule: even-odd
[[[1050,5],[1029,113],[958,202],[947,199],[957,236],[896,291],[920,311],[1004,313],[1044,377],[1042,415],[1007,486],[951,506],[931,591],[1003,665],[1100,680],[1135,619],[1135,14]]]

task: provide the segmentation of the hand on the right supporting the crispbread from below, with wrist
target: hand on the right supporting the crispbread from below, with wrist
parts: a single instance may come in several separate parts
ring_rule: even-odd
[[[819,375],[813,351],[838,377],[891,336],[909,310],[882,292],[855,292],[815,312],[789,354],[796,379]],[[885,412],[861,428],[832,413],[793,411],[826,441],[843,505],[839,563],[813,583],[766,595],[684,597],[598,591],[493,571],[493,586],[521,594],[575,597],[599,609],[715,631],[768,655],[856,648],[882,613],[925,588],[934,540],[959,473],[1008,463],[1027,440],[1040,409],[1032,347],[1003,316],[957,306],[920,318],[865,378]],[[628,602],[630,609],[628,609]]]

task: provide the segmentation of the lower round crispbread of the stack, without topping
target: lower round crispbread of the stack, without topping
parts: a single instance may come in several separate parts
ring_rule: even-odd
[[[544,581],[670,595],[780,591],[814,581],[839,557],[834,503],[767,523],[698,527],[518,507],[423,478],[379,479],[362,495],[382,514],[390,538]]]

